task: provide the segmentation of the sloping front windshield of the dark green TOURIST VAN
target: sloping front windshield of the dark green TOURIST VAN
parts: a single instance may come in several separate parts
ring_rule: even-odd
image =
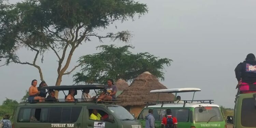
[[[109,106],[108,109],[118,118],[122,120],[133,120],[134,117],[122,106]]]

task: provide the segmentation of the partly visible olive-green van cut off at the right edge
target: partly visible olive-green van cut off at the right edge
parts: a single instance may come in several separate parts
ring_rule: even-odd
[[[233,128],[256,128],[256,93],[238,93],[235,103],[234,116],[228,116],[227,123]]]

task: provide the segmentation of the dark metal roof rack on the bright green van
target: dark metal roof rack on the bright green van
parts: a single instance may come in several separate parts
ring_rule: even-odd
[[[180,101],[149,101],[145,102],[147,103],[146,108],[149,105],[156,105],[156,104],[161,104],[161,107],[163,107],[163,104],[183,104],[183,107],[185,107],[186,103],[190,104],[197,104],[197,103],[209,103],[212,104],[214,100],[180,100]]]

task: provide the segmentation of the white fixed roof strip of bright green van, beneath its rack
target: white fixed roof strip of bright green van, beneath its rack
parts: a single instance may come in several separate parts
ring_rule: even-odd
[[[219,105],[216,105],[216,104],[206,104],[206,103],[186,103],[186,108],[196,108],[196,107],[199,107],[199,105],[202,105],[202,106],[215,106],[215,107],[219,107]],[[170,103],[170,104],[156,104],[156,105],[149,105],[147,107],[144,107],[144,108],[183,108],[183,103]]]

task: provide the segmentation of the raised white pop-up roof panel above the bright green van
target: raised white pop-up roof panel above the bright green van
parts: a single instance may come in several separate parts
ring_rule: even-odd
[[[200,88],[174,88],[174,89],[160,89],[151,90],[150,93],[185,93],[185,92],[195,92],[201,91]]]

